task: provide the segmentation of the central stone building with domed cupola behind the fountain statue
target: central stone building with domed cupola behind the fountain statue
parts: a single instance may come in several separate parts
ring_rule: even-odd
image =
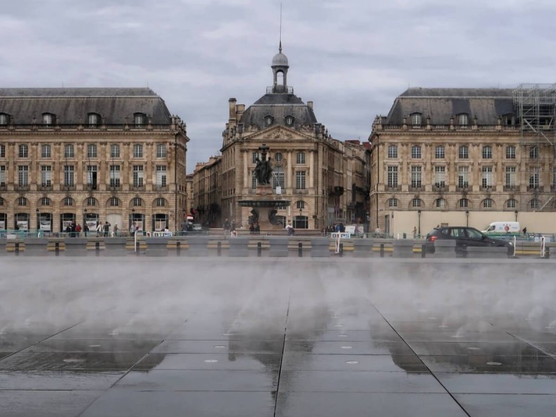
[[[256,193],[254,168],[263,145],[270,148],[272,190],[291,205],[279,208],[277,219],[292,220],[295,229],[321,229],[345,220],[347,195],[341,142],[334,140],[313,111],[287,84],[288,58],[272,59],[272,86],[245,108],[229,99],[229,120],[222,133],[222,218],[247,226],[250,208],[238,201]]]

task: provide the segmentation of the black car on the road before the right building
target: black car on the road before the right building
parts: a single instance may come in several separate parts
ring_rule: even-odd
[[[466,256],[468,246],[507,247],[508,256],[514,254],[512,242],[491,238],[473,227],[466,226],[435,227],[427,234],[425,252],[434,254],[434,242],[439,239],[454,239],[456,241],[456,254],[460,256]]]

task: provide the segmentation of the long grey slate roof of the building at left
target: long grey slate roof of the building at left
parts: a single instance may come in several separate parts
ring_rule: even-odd
[[[133,123],[133,113],[144,113],[153,124],[170,124],[164,100],[150,88],[0,88],[0,113],[15,124],[41,123],[42,113],[56,115],[58,124],[86,123],[98,113],[106,124]],[[81,120],[80,120],[81,117]]]

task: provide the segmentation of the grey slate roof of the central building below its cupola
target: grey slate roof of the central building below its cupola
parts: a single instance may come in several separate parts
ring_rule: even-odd
[[[272,126],[286,125],[286,116],[293,116],[295,119],[291,129],[300,129],[301,126],[313,126],[317,123],[317,118],[313,109],[304,104],[304,102],[293,94],[272,93],[263,95],[260,99],[248,107],[241,116],[240,123],[245,126],[255,125],[259,129],[265,129],[269,126],[265,124],[266,116],[274,117]]]

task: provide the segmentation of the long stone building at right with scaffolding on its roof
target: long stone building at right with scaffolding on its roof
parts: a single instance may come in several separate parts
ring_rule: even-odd
[[[373,227],[542,229],[556,210],[555,115],[554,86],[409,88],[369,137]]]

